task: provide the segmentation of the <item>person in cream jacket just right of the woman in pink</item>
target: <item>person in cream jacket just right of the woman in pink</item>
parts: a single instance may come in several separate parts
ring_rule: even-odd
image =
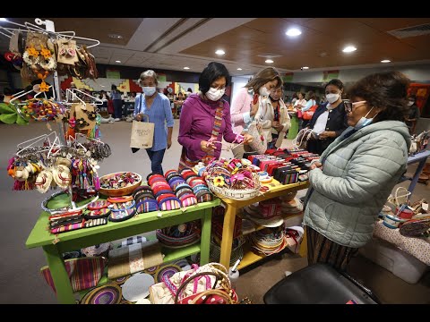
[[[291,126],[287,106],[282,100],[282,82],[276,89],[271,89],[269,100],[262,112],[262,131],[267,140],[267,148],[280,148],[285,133]]]

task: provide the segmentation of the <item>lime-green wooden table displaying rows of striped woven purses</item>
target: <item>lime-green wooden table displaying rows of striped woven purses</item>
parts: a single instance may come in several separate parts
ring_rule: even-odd
[[[59,195],[47,204],[47,208],[59,208],[67,204],[68,197]],[[209,250],[211,246],[211,216],[212,208],[219,206],[220,200],[214,199],[194,206],[170,211],[153,211],[139,214],[124,222],[101,225],[91,228],[82,228],[68,233],[59,233],[59,241],[55,242],[56,235],[47,231],[49,214],[45,211],[39,216],[33,227],[25,246],[27,248],[42,247],[47,257],[47,265],[51,271],[54,284],[56,285],[56,297],[60,303],[75,303],[72,286],[65,270],[62,254],[65,251],[79,250],[84,247],[97,245],[102,242],[111,242],[139,233],[151,232],[159,228],[178,225],[202,219],[202,237],[200,245],[168,251],[164,261],[184,258],[200,251],[201,265],[209,262]],[[78,203],[79,206],[79,203]],[[161,216],[158,216],[159,213]]]

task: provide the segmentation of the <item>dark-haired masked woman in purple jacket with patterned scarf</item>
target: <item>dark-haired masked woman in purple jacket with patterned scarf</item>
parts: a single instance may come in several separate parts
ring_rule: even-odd
[[[230,143],[253,140],[250,135],[236,135],[231,130],[230,106],[221,98],[229,77],[226,66],[212,62],[200,74],[199,92],[186,98],[177,138],[183,146],[179,169],[205,157],[219,158],[223,138]]]

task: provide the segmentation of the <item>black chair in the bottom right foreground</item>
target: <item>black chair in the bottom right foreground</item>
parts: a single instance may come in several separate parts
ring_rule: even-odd
[[[380,304],[354,278],[328,264],[317,263],[283,278],[264,294],[265,304]]]

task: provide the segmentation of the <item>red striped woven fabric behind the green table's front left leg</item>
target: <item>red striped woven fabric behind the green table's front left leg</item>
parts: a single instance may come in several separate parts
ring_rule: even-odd
[[[71,258],[64,260],[65,270],[70,278],[73,292],[94,287],[99,283],[105,269],[105,260],[101,257]],[[56,292],[49,267],[40,268],[40,273],[47,284]]]

